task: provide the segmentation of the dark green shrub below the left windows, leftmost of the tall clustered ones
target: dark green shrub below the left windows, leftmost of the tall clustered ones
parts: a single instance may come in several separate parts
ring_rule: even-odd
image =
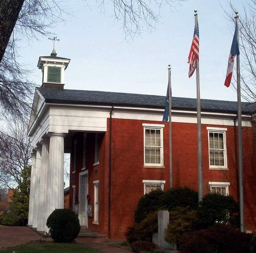
[[[160,189],[150,191],[139,199],[136,211],[134,213],[135,223],[139,223],[147,217],[149,213],[157,211],[161,208],[160,197],[163,191]]]

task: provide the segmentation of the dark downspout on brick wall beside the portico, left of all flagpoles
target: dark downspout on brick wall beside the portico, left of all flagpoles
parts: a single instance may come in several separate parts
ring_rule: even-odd
[[[111,148],[112,148],[112,112],[114,106],[112,105],[111,111],[109,112],[109,214],[108,214],[108,237],[110,238],[110,221],[111,221],[111,167],[112,167],[112,157],[111,157]]]

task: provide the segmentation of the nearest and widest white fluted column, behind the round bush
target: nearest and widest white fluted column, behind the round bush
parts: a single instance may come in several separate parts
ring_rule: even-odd
[[[56,208],[64,208],[64,136],[50,134],[46,219]]]

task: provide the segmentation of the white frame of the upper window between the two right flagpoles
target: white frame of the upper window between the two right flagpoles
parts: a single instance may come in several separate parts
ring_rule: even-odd
[[[227,146],[226,146],[226,128],[223,127],[210,127],[207,126],[208,130],[208,158],[209,158],[209,168],[213,170],[228,170],[227,161]],[[221,133],[223,134],[223,148],[224,148],[224,165],[211,165],[210,164],[210,133]]]

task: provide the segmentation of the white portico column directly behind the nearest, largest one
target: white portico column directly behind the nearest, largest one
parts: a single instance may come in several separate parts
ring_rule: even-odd
[[[46,211],[47,211],[47,177],[48,177],[48,157],[49,157],[49,140],[42,140],[41,168],[40,168],[40,185],[38,196],[38,231],[46,231]]]

